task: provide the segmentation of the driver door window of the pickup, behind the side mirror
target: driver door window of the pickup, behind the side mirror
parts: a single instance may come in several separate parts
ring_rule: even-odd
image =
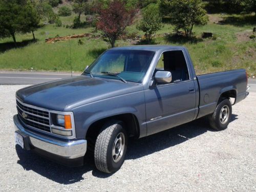
[[[164,70],[172,73],[172,82],[189,80],[186,60],[182,51],[164,52],[156,67],[156,71]]]

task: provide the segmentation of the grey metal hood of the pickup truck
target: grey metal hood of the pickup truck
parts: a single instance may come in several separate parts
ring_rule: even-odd
[[[20,89],[16,97],[40,108],[71,111],[83,104],[141,90],[138,83],[81,75]]]

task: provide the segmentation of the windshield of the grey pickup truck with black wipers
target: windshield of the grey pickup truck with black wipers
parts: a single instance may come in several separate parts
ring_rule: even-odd
[[[155,55],[154,51],[109,50],[82,75],[141,82]]]

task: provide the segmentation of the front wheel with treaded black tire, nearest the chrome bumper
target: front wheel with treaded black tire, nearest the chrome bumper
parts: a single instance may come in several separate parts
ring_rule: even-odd
[[[122,124],[121,121],[111,121],[105,124],[96,139],[94,161],[97,169],[101,172],[116,172],[124,162],[127,148],[127,134]],[[115,141],[119,143],[115,144]],[[118,148],[119,146],[121,148]],[[114,151],[120,155],[113,156]]]

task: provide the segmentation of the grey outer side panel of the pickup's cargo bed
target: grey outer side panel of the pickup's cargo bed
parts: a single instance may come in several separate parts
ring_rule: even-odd
[[[247,78],[244,69],[198,75],[197,81],[200,93],[197,118],[213,113],[219,98],[226,91],[232,93],[235,98],[234,103],[247,96]]]

